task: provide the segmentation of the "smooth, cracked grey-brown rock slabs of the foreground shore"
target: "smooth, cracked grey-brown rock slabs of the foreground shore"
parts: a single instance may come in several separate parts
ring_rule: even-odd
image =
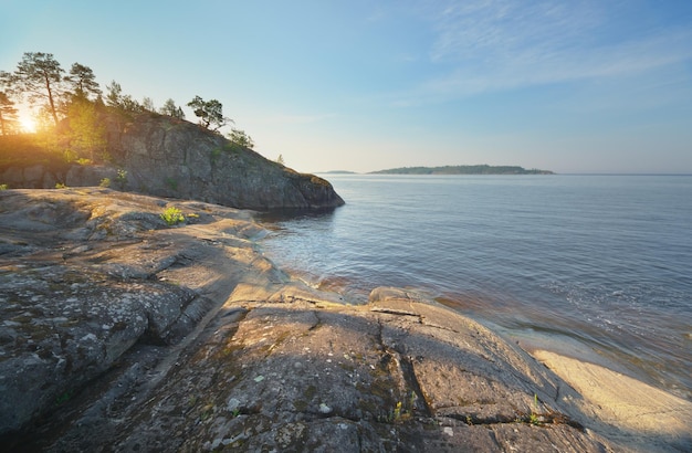
[[[306,287],[262,234],[217,204],[0,191],[3,451],[692,449],[688,401],[416,292]]]

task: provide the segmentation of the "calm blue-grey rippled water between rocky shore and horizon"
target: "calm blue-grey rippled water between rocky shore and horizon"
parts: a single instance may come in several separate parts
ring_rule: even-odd
[[[345,207],[264,219],[291,274],[418,288],[692,399],[692,176],[325,177]]]

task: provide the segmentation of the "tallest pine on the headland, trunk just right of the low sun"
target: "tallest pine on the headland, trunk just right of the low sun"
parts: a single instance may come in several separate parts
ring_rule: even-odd
[[[63,72],[52,53],[25,52],[9,81],[13,89],[27,95],[30,102],[44,99],[57,126],[57,99],[63,93]]]

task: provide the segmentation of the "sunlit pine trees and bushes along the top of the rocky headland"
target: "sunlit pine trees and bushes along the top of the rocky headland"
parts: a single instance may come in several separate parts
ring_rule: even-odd
[[[29,107],[36,119],[31,139],[18,138],[28,133],[19,120],[19,104]],[[206,129],[219,133],[232,123],[223,116],[223,106],[217,99],[195,96],[187,106]],[[156,108],[149,97],[138,102],[124,94],[115,81],[106,86],[104,94],[91,67],[73,63],[66,72],[51,53],[27,52],[13,71],[0,71],[0,151],[3,154],[18,144],[31,143],[44,151],[61,152],[69,161],[108,160],[107,119],[132,120],[144,113],[185,118],[182,108],[172,98]],[[229,138],[253,147],[243,130],[232,129]]]

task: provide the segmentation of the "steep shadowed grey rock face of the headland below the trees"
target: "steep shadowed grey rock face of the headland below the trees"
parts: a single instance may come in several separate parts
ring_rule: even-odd
[[[113,166],[72,166],[55,170],[34,165],[0,173],[11,188],[98,186],[158,197],[200,200],[227,207],[327,209],[344,204],[332,185],[314,175],[298,173],[265,159],[251,149],[184,120],[141,114],[135,120],[109,127]],[[125,178],[118,178],[125,170]]]

